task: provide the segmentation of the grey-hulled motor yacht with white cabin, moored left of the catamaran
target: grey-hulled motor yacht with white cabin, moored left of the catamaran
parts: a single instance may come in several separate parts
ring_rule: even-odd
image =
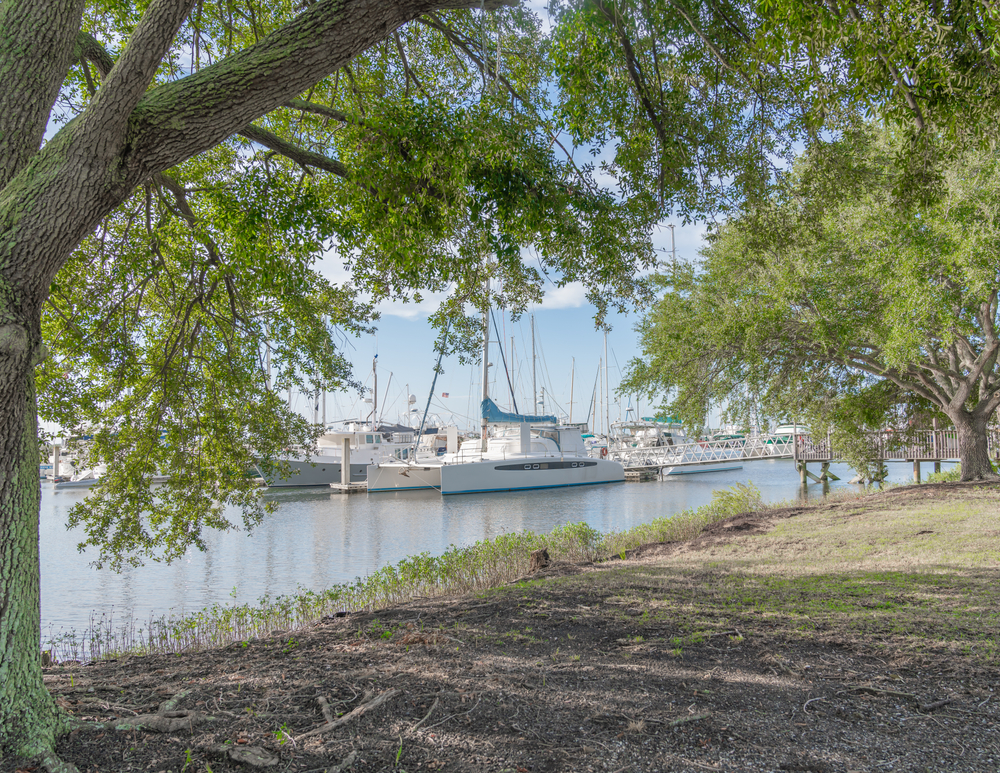
[[[333,430],[329,426],[328,430]],[[278,475],[259,465],[258,471],[268,486],[274,488],[297,488],[301,486],[329,486],[341,482],[341,460],[343,438],[350,435],[350,481],[363,483],[368,477],[368,466],[389,459],[400,462],[409,459],[413,448],[413,434],[407,432],[380,431],[367,428],[358,421],[346,421],[342,429],[328,431],[316,442],[316,453],[289,454],[274,461],[287,465],[287,474]]]

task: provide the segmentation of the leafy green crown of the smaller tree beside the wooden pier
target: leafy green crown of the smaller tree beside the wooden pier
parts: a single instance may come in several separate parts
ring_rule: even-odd
[[[663,410],[693,426],[709,404],[749,426],[832,426],[857,464],[862,433],[939,417],[975,427],[985,448],[1000,403],[1000,166],[992,153],[955,159],[938,201],[900,207],[901,141],[845,128],[700,261],[658,275],[623,388],[671,395]]]

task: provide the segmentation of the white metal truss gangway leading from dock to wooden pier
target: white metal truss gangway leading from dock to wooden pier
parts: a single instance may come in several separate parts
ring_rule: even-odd
[[[611,448],[608,459],[618,462],[626,470],[664,470],[752,459],[791,459],[794,450],[792,435],[763,434],[677,445]]]

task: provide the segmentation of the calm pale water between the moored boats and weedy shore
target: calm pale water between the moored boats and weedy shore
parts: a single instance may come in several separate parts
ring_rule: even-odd
[[[925,465],[927,472],[930,465]],[[911,479],[909,464],[889,464],[890,480]],[[853,473],[832,465],[849,487]],[[818,470],[817,470],[818,472]],[[90,565],[82,538],[66,529],[69,509],[85,491],[53,491],[42,484],[42,631],[82,631],[92,616],[121,619],[194,612],[216,602],[255,601],[265,594],[322,590],[400,559],[449,545],[468,545],[509,531],[548,532],[585,521],[617,531],[709,502],[712,492],[752,482],[769,502],[819,498],[820,484],[802,495],[790,460],[748,462],[742,470],[683,475],[662,482],[623,483],[523,493],[441,497],[435,491],[343,496],[319,489],[268,493],[277,512],[252,535],[215,532],[208,550],[191,550],[172,565],[151,563],[116,574]],[[851,487],[855,488],[855,487]],[[238,516],[237,516],[238,517]]]

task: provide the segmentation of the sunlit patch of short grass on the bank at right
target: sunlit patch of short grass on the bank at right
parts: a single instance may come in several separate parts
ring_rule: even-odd
[[[902,486],[554,582],[585,584],[621,609],[642,609],[647,625],[669,624],[666,643],[678,654],[724,631],[766,629],[887,660],[953,654],[995,666],[998,505],[996,487]]]

